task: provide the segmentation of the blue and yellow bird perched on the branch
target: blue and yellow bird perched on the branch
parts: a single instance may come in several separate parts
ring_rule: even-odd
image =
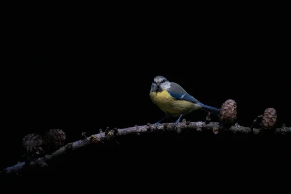
[[[155,123],[154,129],[165,118],[170,116],[178,117],[178,120],[174,124],[174,128],[177,129],[177,124],[183,115],[199,109],[215,115],[219,114],[219,109],[199,102],[188,94],[178,83],[170,82],[163,76],[156,76],[154,78],[149,96],[152,102],[166,114],[165,117]]]

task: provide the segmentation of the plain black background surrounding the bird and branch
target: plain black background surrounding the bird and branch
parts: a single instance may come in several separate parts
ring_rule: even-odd
[[[235,100],[240,125],[249,127],[273,107],[278,127],[291,126],[290,22],[283,10],[272,10],[115,12],[68,6],[10,13],[2,37],[7,44],[1,71],[1,169],[21,159],[21,140],[28,133],[58,128],[73,142],[83,131],[90,135],[106,127],[157,122],[164,114],[149,98],[157,75],[210,106]],[[206,115],[196,111],[184,118],[199,121]],[[129,136],[119,144],[67,154],[44,172],[9,181],[19,188],[49,191],[60,185],[100,192],[155,186],[161,191],[177,186],[181,192],[180,181],[182,188],[191,188],[197,180],[212,185],[223,177],[226,184],[246,177],[243,184],[252,185],[265,175],[274,184],[290,166],[290,140],[195,132]]]

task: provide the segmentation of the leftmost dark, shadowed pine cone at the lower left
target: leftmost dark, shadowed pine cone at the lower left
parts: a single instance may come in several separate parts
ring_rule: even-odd
[[[49,140],[42,135],[31,133],[22,139],[22,146],[32,156],[43,156],[49,151]]]

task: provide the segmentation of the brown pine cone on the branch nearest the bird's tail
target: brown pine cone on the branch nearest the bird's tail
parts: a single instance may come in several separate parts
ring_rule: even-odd
[[[221,108],[219,113],[220,122],[225,124],[233,123],[237,118],[237,104],[234,100],[226,100]]]

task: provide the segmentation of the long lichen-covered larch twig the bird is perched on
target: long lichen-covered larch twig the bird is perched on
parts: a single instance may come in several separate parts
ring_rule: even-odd
[[[100,133],[91,135],[90,137],[86,137],[84,139],[81,139],[79,141],[69,143],[61,148],[59,148],[57,151],[53,152],[52,154],[46,155],[45,157],[38,158],[35,161],[32,161],[29,163],[31,166],[35,166],[36,164],[45,167],[48,164],[46,163],[47,161],[64,154],[68,150],[76,150],[80,147],[83,146],[88,146],[90,144],[97,144],[97,143],[103,143],[104,140],[112,140],[114,136],[121,136],[121,135],[128,135],[128,134],[138,134],[141,135],[143,133],[148,133],[148,132],[159,132],[159,131],[174,131],[174,123],[164,123],[164,124],[159,124],[157,129],[154,131],[153,130],[153,124],[147,124],[143,126],[134,126],[130,128],[125,128],[125,129],[113,129],[109,130],[108,128],[103,132],[101,129],[99,130]],[[220,123],[218,122],[210,122],[206,124],[205,122],[198,121],[198,122],[190,122],[190,121],[185,121],[178,123],[178,128],[181,130],[196,130],[196,131],[212,131],[214,134],[218,134],[220,132],[224,131],[229,131],[229,132],[234,132],[234,133],[252,133],[252,134],[259,134],[260,132],[263,132],[264,129],[251,129],[249,127],[243,127],[238,125],[237,123],[231,126],[228,129],[221,128]],[[274,131],[275,134],[283,134],[285,135],[286,133],[291,134],[291,127],[285,127],[285,125],[282,126],[282,128],[277,128]],[[4,168],[0,174],[8,174],[8,173],[17,173],[24,169],[26,166],[25,162],[18,163],[14,166]]]

